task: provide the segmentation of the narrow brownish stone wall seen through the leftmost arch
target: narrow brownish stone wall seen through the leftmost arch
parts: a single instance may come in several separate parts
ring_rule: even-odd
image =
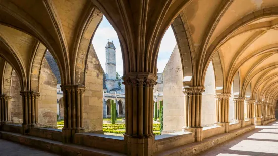
[[[20,81],[17,73],[12,72],[10,110],[13,123],[22,123],[22,97],[20,95]]]

